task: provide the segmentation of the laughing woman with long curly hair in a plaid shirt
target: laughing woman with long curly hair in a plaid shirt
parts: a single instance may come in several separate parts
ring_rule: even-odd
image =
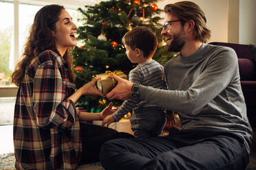
[[[68,48],[76,45],[76,29],[60,5],[47,5],[34,17],[23,60],[12,75],[19,86],[14,110],[17,169],[76,169],[78,163],[97,161],[105,141],[131,137],[79,122],[101,120],[112,111],[109,105],[98,114],[76,112],[74,104],[82,95],[102,95],[95,86],[98,78],[74,92]]]

